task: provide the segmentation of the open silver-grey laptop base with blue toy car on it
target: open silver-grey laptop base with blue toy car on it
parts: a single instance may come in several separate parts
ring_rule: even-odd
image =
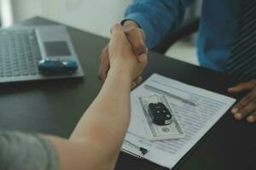
[[[42,59],[72,60],[72,74],[44,75],[38,70]],[[66,26],[37,26],[0,29],[0,83],[84,77],[84,71]]]

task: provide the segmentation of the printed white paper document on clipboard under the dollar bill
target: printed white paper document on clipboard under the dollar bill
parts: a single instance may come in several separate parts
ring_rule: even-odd
[[[196,104],[189,105],[188,102],[183,102],[181,99],[167,97],[186,134],[184,138],[160,141],[148,139],[148,131],[145,126],[147,120],[143,116],[138,99],[157,93],[146,89],[145,85],[158,88]],[[147,149],[148,153],[143,156],[144,159],[172,169],[235,102],[236,99],[222,94],[216,94],[154,74],[131,93],[131,123],[125,140]],[[136,150],[130,144],[124,143],[122,148],[142,156],[140,150]]]

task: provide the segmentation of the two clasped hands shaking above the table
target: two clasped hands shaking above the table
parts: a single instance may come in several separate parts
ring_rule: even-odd
[[[110,42],[102,50],[98,77],[105,82],[110,70],[126,71],[131,78],[131,88],[135,88],[143,80],[143,69],[148,63],[144,32],[128,20],[124,26],[114,25],[111,33]]]

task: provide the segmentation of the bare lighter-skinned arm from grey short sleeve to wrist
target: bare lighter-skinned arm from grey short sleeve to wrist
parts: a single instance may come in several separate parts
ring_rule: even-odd
[[[114,69],[70,139],[48,137],[58,150],[61,170],[114,168],[130,121],[131,90],[125,67]]]

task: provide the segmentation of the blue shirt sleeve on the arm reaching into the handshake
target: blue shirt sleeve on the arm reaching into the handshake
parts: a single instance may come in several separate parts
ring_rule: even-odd
[[[125,20],[134,20],[146,34],[148,48],[153,48],[169,31],[178,26],[185,8],[194,0],[134,0],[126,9]]]

